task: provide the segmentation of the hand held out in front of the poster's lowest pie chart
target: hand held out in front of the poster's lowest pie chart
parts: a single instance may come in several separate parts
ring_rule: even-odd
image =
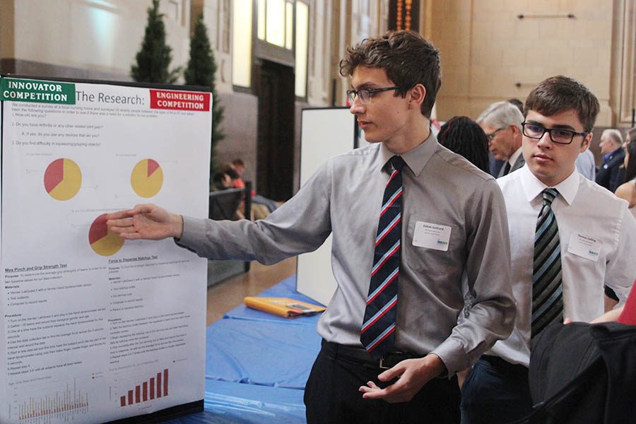
[[[109,213],[106,225],[127,240],[161,240],[181,237],[183,217],[155,204],[141,204],[128,211]]]

